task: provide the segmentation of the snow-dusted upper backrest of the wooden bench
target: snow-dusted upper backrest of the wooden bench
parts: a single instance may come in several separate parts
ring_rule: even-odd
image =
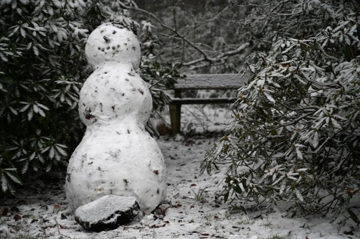
[[[249,75],[241,74],[197,74],[189,75],[185,79],[178,79],[174,89],[179,90],[227,90],[239,89],[248,81]]]

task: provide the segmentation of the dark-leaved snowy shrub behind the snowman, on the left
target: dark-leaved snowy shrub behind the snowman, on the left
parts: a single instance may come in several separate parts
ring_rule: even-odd
[[[78,93],[91,73],[84,45],[103,22],[139,25],[125,8],[130,0],[0,0],[0,183],[15,193],[29,172],[64,171],[84,127]],[[146,30],[140,36],[147,41]],[[155,36],[152,36],[156,38]],[[141,69],[153,86],[155,108],[166,103],[168,66],[156,63],[155,41],[143,44]],[[152,55],[150,55],[150,50]],[[161,84],[150,82],[167,75]]]

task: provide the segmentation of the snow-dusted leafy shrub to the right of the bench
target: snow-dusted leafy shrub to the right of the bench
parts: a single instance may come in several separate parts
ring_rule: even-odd
[[[348,206],[360,186],[360,2],[296,2],[272,12],[286,33],[276,37],[273,26],[271,49],[248,62],[253,77],[239,89],[229,135],[201,167],[229,165],[225,202],[284,201],[293,216],[333,219],[347,210],[359,222]],[[311,31],[297,34],[301,24]]]

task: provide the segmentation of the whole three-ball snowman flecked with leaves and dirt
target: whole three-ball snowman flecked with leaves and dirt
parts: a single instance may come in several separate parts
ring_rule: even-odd
[[[106,195],[136,197],[145,213],[166,197],[165,162],[145,131],[152,99],[136,73],[140,45],[119,23],[95,29],[85,46],[94,72],[79,99],[86,132],[70,158],[66,196],[75,211]]]

